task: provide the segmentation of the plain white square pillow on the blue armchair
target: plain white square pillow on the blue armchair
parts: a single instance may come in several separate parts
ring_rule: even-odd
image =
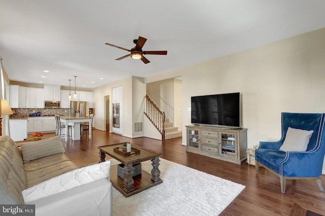
[[[301,130],[289,127],[279,150],[284,152],[305,152],[313,132],[313,130]]]

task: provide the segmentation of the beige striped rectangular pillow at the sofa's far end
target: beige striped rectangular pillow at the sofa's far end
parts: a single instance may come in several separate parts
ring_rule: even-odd
[[[20,144],[24,163],[49,155],[64,153],[61,137],[54,136],[35,142],[23,142]]]

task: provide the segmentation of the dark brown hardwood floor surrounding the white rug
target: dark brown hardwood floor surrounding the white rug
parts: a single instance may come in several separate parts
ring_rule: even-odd
[[[97,147],[99,146],[130,141],[147,149],[161,152],[161,158],[245,185],[246,188],[243,192],[221,215],[290,215],[290,212],[292,213],[295,210],[292,209],[291,211],[294,204],[303,209],[325,215],[325,193],[320,192],[316,181],[287,180],[286,193],[282,194],[279,177],[263,167],[259,168],[259,174],[255,174],[255,166],[247,163],[237,165],[187,153],[186,147],[181,145],[181,138],[165,141],[145,137],[131,139],[100,130],[93,130],[93,136],[94,138],[90,141],[84,139],[66,143],[62,139],[66,154],[76,164],[98,162],[100,158]],[[321,178],[323,186],[325,186],[325,176],[323,175]],[[187,179],[187,181],[191,181],[191,179]],[[297,212],[296,209],[296,212],[291,215],[305,215]]]

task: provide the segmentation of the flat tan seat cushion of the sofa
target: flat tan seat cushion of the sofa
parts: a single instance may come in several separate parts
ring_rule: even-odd
[[[26,188],[77,168],[78,166],[63,153],[29,161],[24,163]]]

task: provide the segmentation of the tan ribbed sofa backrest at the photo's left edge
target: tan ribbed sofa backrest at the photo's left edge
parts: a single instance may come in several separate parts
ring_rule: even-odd
[[[9,136],[0,136],[0,203],[23,204],[26,176],[21,155]]]

